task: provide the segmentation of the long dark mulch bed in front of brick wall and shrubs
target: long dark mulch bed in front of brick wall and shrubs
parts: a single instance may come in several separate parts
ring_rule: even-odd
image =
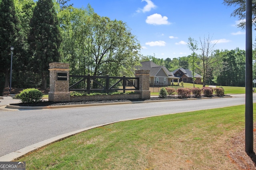
[[[228,95],[224,95],[228,96]],[[217,97],[213,95],[212,97]],[[201,96],[199,98],[212,98]],[[196,98],[194,96],[190,96],[189,98]],[[114,102],[135,102],[135,101],[150,101],[150,100],[172,100],[179,99],[178,96],[168,96],[167,98],[159,98],[159,97],[151,97],[150,99],[127,99],[127,100],[101,100],[101,101],[80,101],[80,102],[49,102],[43,101],[39,103],[18,103],[18,104],[10,104],[14,106],[62,106],[62,105],[77,105],[77,104],[96,104],[96,103],[114,103]]]

